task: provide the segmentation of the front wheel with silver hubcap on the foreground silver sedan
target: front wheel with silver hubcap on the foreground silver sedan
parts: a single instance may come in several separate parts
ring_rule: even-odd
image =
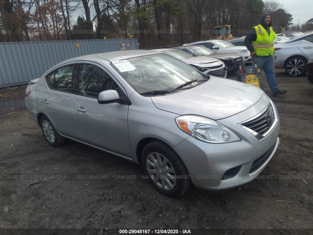
[[[141,164],[153,186],[167,196],[180,196],[192,186],[185,164],[178,154],[162,141],[152,141],[144,147]]]

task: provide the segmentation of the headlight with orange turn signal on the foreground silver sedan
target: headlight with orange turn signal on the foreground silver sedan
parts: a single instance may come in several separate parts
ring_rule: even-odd
[[[196,115],[175,118],[178,127],[192,137],[209,143],[241,141],[240,138],[220,122]]]

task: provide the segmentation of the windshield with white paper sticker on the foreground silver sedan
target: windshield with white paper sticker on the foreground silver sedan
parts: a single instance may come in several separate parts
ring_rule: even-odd
[[[193,83],[191,81],[208,79],[191,66],[166,54],[144,55],[112,64],[139,94],[167,94],[183,84]]]

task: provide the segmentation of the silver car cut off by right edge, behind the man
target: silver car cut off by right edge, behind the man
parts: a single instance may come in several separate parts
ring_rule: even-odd
[[[274,67],[285,69],[291,77],[304,76],[307,63],[313,58],[313,33],[304,34],[285,43],[275,44]]]

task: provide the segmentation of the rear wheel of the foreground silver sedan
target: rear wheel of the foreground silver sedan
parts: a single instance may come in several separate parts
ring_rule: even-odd
[[[53,147],[59,147],[66,143],[67,139],[60,136],[51,121],[44,115],[40,119],[40,126],[45,140]]]

